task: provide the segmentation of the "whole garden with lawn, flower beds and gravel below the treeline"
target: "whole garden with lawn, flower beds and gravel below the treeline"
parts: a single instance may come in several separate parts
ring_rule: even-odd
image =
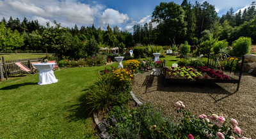
[[[180,53],[188,55],[187,43]],[[184,48],[183,48],[184,47]],[[255,77],[243,73],[235,84],[173,82],[164,87],[154,68],[168,66],[169,79],[232,80],[236,75],[210,69],[206,57],[166,55],[163,47],[147,47],[145,58],[104,65],[109,57],[62,59],[54,72],[58,82],[37,85],[38,75],[2,82],[3,138],[246,138],[255,137]],[[164,52],[163,52],[164,53]],[[136,54],[135,54],[136,55]],[[54,57],[48,57],[54,59]],[[227,61],[220,63],[236,71]],[[166,63],[165,63],[166,62]],[[89,63],[89,64],[88,64]],[[172,67],[173,63],[179,66]],[[64,68],[67,67],[67,68]],[[134,101],[131,93],[141,102]],[[106,129],[101,132],[93,115]],[[11,117],[11,118],[10,118]]]

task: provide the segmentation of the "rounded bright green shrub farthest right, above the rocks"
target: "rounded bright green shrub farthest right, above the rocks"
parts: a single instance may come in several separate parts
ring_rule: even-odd
[[[243,57],[243,55],[250,52],[252,45],[252,39],[248,37],[240,37],[238,40],[232,43],[232,54],[236,57]]]

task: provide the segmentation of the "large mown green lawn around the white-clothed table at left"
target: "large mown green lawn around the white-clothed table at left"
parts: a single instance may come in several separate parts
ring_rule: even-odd
[[[96,138],[82,97],[96,68],[104,66],[55,71],[58,82],[49,85],[38,85],[38,74],[1,82],[0,138]]]

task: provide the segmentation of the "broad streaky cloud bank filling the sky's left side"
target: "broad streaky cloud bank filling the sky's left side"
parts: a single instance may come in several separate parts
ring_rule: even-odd
[[[93,2],[84,4],[77,0],[5,0],[0,1],[1,15],[10,16],[19,13],[19,17],[41,17],[45,20],[56,20],[68,23],[92,25],[104,6]],[[8,14],[9,15],[6,15]],[[40,19],[40,20],[41,20]],[[63,23],[61,22],[61,23]]]

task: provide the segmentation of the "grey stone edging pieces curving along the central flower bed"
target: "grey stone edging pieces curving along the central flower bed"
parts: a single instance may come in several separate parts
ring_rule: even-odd
[[[139,73],[134,74],[134,76],[138,75]],[[132,93],[132,91],[130,92],[132,99],[134,99],[134,101],[138,104],[141,105],[142,103],[139,101],[138,98],[136,98],[136,96]],[[100,129],[100,132],[102,133],[103,138],[106,138],[106,127],[99,121],[97,115],[93,112],[93,119],[94,122],[97,124],[98,128]]]

